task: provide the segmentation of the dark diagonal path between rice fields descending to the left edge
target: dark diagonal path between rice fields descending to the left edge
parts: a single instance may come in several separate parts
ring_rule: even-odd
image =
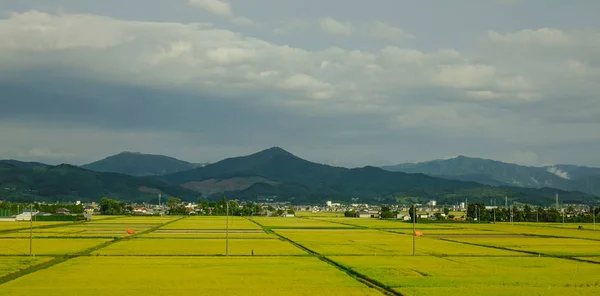
[[[101,243],[99,245],[93,246],[91,248],[88,248],[88,249],[83,250],[83,251],[78,252],[78,253],[73,253],[73,254],[68,254],[68,255],[63,255],[63,256],[55,256],[54,259],[52,259],[50,261],[46,261],[46,262],[41,263],[41,264],[33,265],[33,266],[27,267],[25,269],[22,269],[22,270],[19,270],[19,271],[7,274],[7,275],[5,275],[3,277],[0,277],[0,286],[2,286],[3,284],[5,284],[7,282],[16,280],[16,279],[18,279],[20,277],[23,277],[23,276],[26,276],[28,274],[34,273],[34,272],[36,272],[38,270],[50,268],[52,266],[58,265],[60,263],[63,263],[65,261],[68,261],[68,260],[73,259],[73,258],[78,258],[78,257],[82,257],[82,256],[91,256],[91,253],[94,252],[94,251],[97,251],[99,249],[102,249],[104,247],[110,246],[110,245],[112,245],[114,243],[117,243],[117,242],[120,242],[120,241],[130,240],[130,239],[133,239],[133,238],[135,238],[135,237],[137,237],[139,235],[144,235],[144,234],[156,231],[157,229],[159,229],[159,228],[161,228],[161,227],[163,227],[163,226],[165,226],[167,224],[179,221],[179,220],[184,219],[184,218],[185,218],[185,216],[183,216],[183,217],[181,217],[179,219],[175,219],[173,221],[169,221],[169,222],[166,222],[166,223],[163,223],[163,224],[159,224],[159,225],[157,225],[157,226],[155,226],[153,228],[150,228],[150,229],[148,229],[146,231],[142,231],[140,233],[136,233],[136,234],[133,234],[133,235],[128,236],[128,237],[122,237],[122,238],[118,238],[118,239],[113,239],[113,240],[110,240],[110,241],[106,241],[104,243]],[[47,256],[43,256],[43,257],[47,257]]]

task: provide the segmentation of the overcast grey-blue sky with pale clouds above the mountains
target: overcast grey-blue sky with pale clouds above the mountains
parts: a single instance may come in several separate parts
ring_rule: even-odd
[[[0,0],[0,159],[600,166],[597,0]]]

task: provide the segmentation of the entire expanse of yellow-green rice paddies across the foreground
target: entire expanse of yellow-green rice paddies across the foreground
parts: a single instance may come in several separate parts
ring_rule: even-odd
[[[28,256],[29,223],[3,222],[0,291],[600,295],[600,230],[593,225],[428,223],[413,237],[403,221],[299,216],[230,217],[227,235],[225,217],[34,222],[35,257]]]

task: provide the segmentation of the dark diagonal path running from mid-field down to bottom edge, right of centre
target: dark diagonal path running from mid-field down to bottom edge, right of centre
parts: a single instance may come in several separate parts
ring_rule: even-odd
[[[339,264],[339,263],[337,263],[337,262],[335,262],[335,261],[327,258],[326,256],[324,256],[324,255],[322,255],[320,253],[317,253],[317,252],[315,252],[315,251],[313,251],[313,250],[305,247],[304,245],[302,245],[300,243],[297,243],[296,241],[293,241],[293,240],[291,240],[291,239],[289,239],[289,238],[287,238],[287,237],[285,237],[285,236],[283,236],[283,235],[281,235],[281,234],[273,231],[271,228],[263,226],[262,224],[258,223],[257,221],[254,221],[253,219],[248,219],[248,220],[250,220],[251,222],[255,223],[256,225],[262,227],[265,230],[266,233],[272,233],[272,234],[278,236],[280,239],[291,243],[292,245],[296,246],[297,248],[299,248],[301,250],[304,250],[308,254],[310,254],[310,255],[314,256],[315,258],[317,258],[317,259],[319,259],[319,260],[321,260],[321,261],[323,261],[323,262],[325,262],[325,263],[333,266],[334,268],[336,268],[336,269],[338,269],[338,270],[346,273],[348,276],[352,277],[356,281],[358,281],[358,282],[360,282],[360,283],[362,283],[362,284],[364,284],[364,285],[366,285],[366,286],[368,286],[368,287],[370,287],[372,289],[378,290],[379,292],[381,292],[381,293],[383,293],[385,295],[404,296],[404,294],[402,294],[402,293],[400,293],[398,291],[394,291],[392,288],[388,287],[387,285],[384,285],[383,283],[381,283],[379,281],[376,281],[376,280],[371,279],[371,278],[369,278],[369,277],[367,277],[367,276],[365,276],[365,275],[363,275],[361,273],[358,273],[358,272],[354,271],[353,269],[351,269],[351,268],[349,268],[347,266],[341,265],[341,264]]]

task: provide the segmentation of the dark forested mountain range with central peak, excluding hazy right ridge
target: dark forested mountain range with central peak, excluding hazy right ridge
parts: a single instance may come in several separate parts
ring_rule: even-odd
[[[143,165],[137,167],[138,163]],[[552,204],[555,194],[559,194],[565,203],[587,203],[598,199],[581,192],[547,187],[523,188],[499,181],[490,184],[494,186],[482,185],[480,183],[486,181],[483,177],[481,180],[456,180],[458,178],[391,172],[372,166],[333,167],[301,159],[279,147],[184,170],[186,164],[190,163],[139,153],[121,153],[93,163],[93,166],[82,167],[0,161],[0,199],[98,200],[108,196],[122,201],[155,202],[158,193],[189,201],[199,197],[215,200],[226,195],[240,200],[268,199],[296,204],[325,200],[395,203],[429,199],[436,199],[441,204],[456,204],[467,198],[489,203],[491,199],[503,200],[505,196],[517,202]],[[90,170],[94,167],[109,172]],[[138,176],[113,173],[125,171],[124,167]],[[404,168],[408,170],[406,167],[410,165]],[[587,176],[584,170],[564,169]],[[179,171],[147,176],[169,170]]]

